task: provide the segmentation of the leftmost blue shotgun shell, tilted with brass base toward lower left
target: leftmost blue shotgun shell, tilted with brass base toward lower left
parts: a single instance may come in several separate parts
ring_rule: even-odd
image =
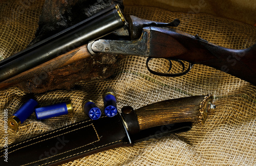
[[[35,100],[29,99],[25,104],[20,106],[10,118],[8,118],[8,126],[13,130],[17,130],[18,126],[31,116],[37,104],[38,103]]]

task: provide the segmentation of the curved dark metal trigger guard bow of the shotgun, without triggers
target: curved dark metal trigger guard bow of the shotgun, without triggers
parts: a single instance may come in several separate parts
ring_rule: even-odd
[[[180,73],[160,73],[160,72],[151,70],[150,67],[148,67],[148,62],[150,62],[151,59],[153,59],[153,57],[147,58],[147,60],[146,60],[146,68],[147,68],[147,70],[150,71],[152,74],[159,75],[159,76],[167,76],[167,77],[182,76],[182,75],[188,73],[188,72],[191,70],[191,68],[193,67],[193,64],[191,64],[191,63],[189,62],[188,68],[187,68],[185,71],[183,71],[183,72],[180,72]],[[167,59],[167,60],[169,61],[169,59]],[[175,61],[177,61],[177,60],[175,60]],[[170,64],[172,64],[172,63],[170,63]]]

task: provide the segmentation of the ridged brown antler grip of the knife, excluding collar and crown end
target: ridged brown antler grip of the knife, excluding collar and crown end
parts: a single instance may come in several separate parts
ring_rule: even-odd
[[[179,122],[199,122],[204,96],[164,100],[136,109],[140,130]]]

